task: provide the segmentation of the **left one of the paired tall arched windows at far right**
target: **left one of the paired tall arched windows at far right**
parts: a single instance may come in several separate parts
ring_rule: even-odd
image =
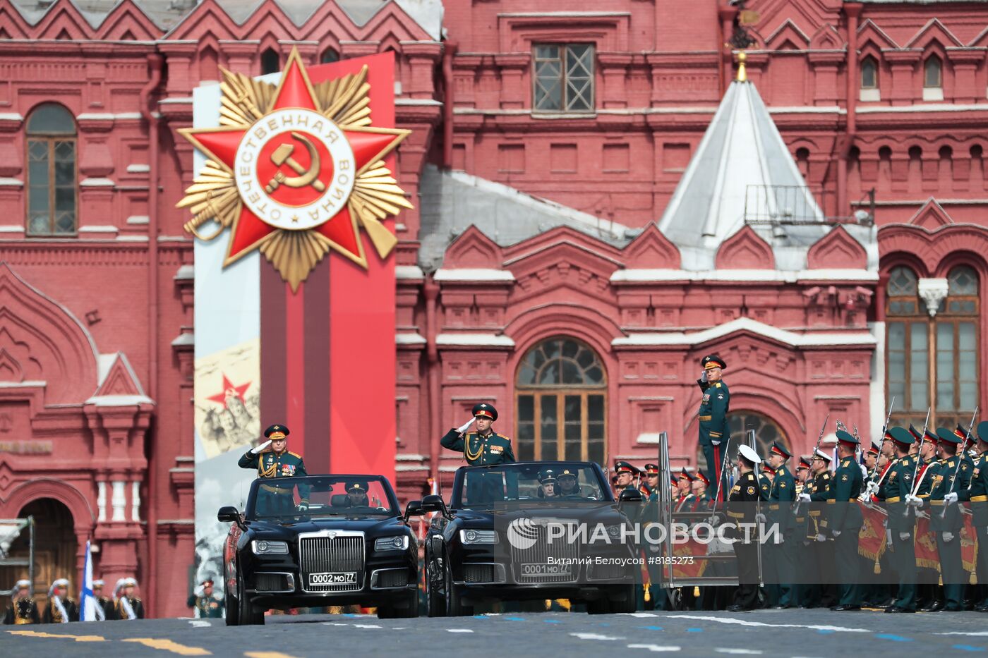
[[[895,396],[892,417],[908,424],[919,415],[922,423],[930,404],[930,322],[910,268],[893,268],[888,274],[885,315],[885,376],[889,399]]]

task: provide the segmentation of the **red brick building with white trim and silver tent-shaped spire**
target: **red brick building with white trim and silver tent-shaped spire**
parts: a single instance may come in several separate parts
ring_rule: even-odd
[[[459,463],[438,438],[477,400],[522,455],[643,461],[666,431],[695,465],[709,352],[734,426],[801,452],[893,394],[939,425],[988,403],[985,3],[752,0],[743,91],[725,2],[572,6],[0,0],[0,518],[40,520],[39,585],[91,537],[105,579],[184,612],[177,130],[218,67],[292,47],[397,56],[403,496]]]

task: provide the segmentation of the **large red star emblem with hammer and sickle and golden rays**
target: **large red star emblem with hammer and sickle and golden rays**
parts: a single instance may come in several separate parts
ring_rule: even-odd
[[[379,167],[379,161],[409,131],[355,124],[361,122],[333,123],[332,117],[339,119],[341,114],[338,107],[342,103],[339,101],[339,93],[336,97],[317,94],[294,49],[288,56],[287,68],[275,91],[274,101],[263,114],[256,108],[256,105],[261,104],[260,101],[251,96],[250,90],[241,89],[243,93],[238,95],[234,86],[229,84],[235,81],[233,74],[224,74],[227,75],[227,82],[222,87],[225,102],[241,109],[238,116],[243,120],[242,123],[181,130],[206,157],[229,174],[231,179],[235,178],[235,184],[230,187],[236,190],[243,202],[230,226],[231,235],[224,267],[262,246],[280,231],[302,233],[307,230],[318,232],[328,241],[328,247],[367,267],[364,246],[359,238],[359,220],[371,231],[370,237],[378,253],[381,257],[385,256],[390,247],[383,247],[378,242],[381,240],[380,231],[384,229],[377,221],[386,214],[396,212],[396,202],[392,199],[391,207],[384,207],[383,210],[381,206],[363,203],[366,198],[361,198],[361,195],[366,194],[365,190],[373,188],[373,185],[361,188],[360,179],[372,167]],[[241,78],[246,79],[243,76]],[[361,91],[366,95],[369,87],[365,87]],[[328,107],[323,107],[324,105]],[[346,107],[349,111],[350,106]],[[259,118],[256,118],[258,115]],[[249,123],[245,119],[248,117],[256,120]],[[322,119],[326,125],[319,122],[317,128],[314,123]],[[307,123],[299,123],[300,120]],[[291,124],[292,121],[295,123]],[[369,120],[364,123],[368,122]],[[285,123],[289,123],[288,127]],[[337,136],[345,140],[345,146],[337,144]],[[334,147],[343,148],[346,157],[341,159]],[[251,148],[254,150],[251,151]],[[245,164],[248,156],[252,160]],[[377,169],[375,175],[379,177],[380,171]],[[390,176],[386,170],[383,173]],[[346,184],[337,185],[340,181],[345,181]],[[378,178],[377,181],[396,183],[394,179]],[[197,179],[197,184],[200,183],[201,179]],[[203,194],[205,187],[194,185],[187,191],[187,200],[196,193],[200,200],[208,199]],[[396,186],[393,189],[400,193]],[[218,196],[215,192],[209,194]],[[355,202],[351,196],[359,199]],[[180,204],[191,205],[189,202]],[[275,209],[268,212],[268,207],[272,205],[279,208],[277,216]],[[405,206],[410,207],[407,203]],[[194,211],[198,215],[205,214],[195,207]],[[199,218],[198,216],[197,219]],[[375,227],[376,230],[372,230]],[[384,236],[383,244],[387,244],[390,239],[391,236]],[[296,246],[294,249],[304,251],[305,247]],[[290,251],[281,247],[278,250]],[[321,254],[314,261],[309,258],[305,264],[294,266],[295,271],[289,273],[288,269],[292,267],[289,263],[292,258],[290,254],[273,255],[266,251],[265,255],[293,286],[304,280],[311,267],[321,258]],[[299,269],[303,272],[298,272]]]

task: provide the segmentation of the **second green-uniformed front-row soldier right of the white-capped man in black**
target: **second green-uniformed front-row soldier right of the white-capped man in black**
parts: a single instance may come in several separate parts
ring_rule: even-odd
[[[851,450],[858,446],[858,440],[844,430],[837,431],[837,441]],[[858,556],[858,535],[864,524],[858,497],[864,490],[864,475],[854,456],[841,457],[834,471],[834,497],[827,520],[830,534],[834,537],[834,561],[837,567],[840,600],[832,610],[861,610],[861,558]],[[828,501],[828,503],[831,501]]]

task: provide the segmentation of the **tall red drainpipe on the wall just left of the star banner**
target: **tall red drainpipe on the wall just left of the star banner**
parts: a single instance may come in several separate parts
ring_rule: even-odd
[[[151,78],[140,90],[140,114],[147,122],[148,132],[148,193],[147,193],[147,396],[155,400],[158,393],[158,119],[152,111],[151,93],[161,83],[161,68],[164,60],[158,53],[147,55],[147,65]],[[148,428],[150,432],[154,424]],[[153,435],[152,435],[153,436]],[[152,441],[148,450],[147,500],[153,501],[157,478],[154,477],[155,464]],[[155,569],[157,567],[158,515],[154,503],[147,506],[147,594],[144,597],[147,617],[154,617],[158,597],[155,596]]]

